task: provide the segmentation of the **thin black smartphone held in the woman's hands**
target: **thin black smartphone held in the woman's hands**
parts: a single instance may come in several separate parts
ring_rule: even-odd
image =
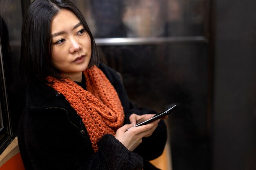
[[[157,119],[163,118],[164,116],[170,114],[170,113],[171,113],[174,109],[176,109],[176,108],[177,108],[177,105],[173,105],[172,107],[170,107],[170,108],[168,108],[168,109],[166,109],[166,110],[164,110],[164,111],[161,111],[161,112],[155,114],[155,116],[153,116],[152,118],[150,118],[150,119],[148,119],[148,120],[145,120],[145,121],[143,121],[143,122],[138,122],[138,123],[136,123],[134,126],[132,126],[132,127],[129,128],[129,129],[132,129],[132,128],[137,127],[137,126],[142,126],[142,125],[148,124],[148,123],[150,123],[150,122],[154,122],[154,121],[157,120]],[[127,129],[127,131],[128,131],[129,129]]]

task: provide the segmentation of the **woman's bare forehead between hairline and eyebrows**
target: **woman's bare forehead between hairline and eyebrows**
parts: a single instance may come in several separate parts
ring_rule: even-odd
[[[61,9],[51,21],[51,31],[52,33],[58,31],[65,31],[67,29],[73,28],[80,20],[76,15],[67,9]]]

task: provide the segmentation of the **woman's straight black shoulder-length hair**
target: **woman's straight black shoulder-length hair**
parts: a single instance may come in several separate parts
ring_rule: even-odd
[[[35,0],[24,15],[21,33],[20,72],[26,83],[49,83],[47,76],[63,77],[52,65],[51,21],[61,9],[72,11],[91,39],[92,54],[88,65],[98,65],[101,57],[94,38],[79,9],[69,0]]]

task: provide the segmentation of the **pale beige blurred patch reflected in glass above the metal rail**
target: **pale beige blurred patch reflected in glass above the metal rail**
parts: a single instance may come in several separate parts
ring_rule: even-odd
[[[123,22],[127,37],[158,37],[164,34],[164,1],[129,0],[125,2]]]

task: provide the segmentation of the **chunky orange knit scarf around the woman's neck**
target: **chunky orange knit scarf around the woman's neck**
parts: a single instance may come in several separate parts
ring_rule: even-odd
[[[77,85],[70,78],[59,81],[47,77],[48,84],[60,94],[74,108],[82,118],[88,131],[92,148],[97,152],[97,142],[105,134],[115,135],[115,132],[124,123],[124,110],[116,90],[105,74],[96,66],[86,69],[83,74],[86,78],[86,88]]]

